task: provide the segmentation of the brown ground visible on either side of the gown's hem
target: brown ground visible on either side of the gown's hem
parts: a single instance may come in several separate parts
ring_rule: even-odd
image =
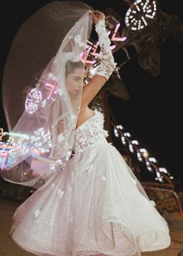
[[[19,205],[20,202],[17,201],[0,199],[0,256],[34,255],[22,250],[8,236],[12,215]],[[171,230],[171,247],[161,251],[142,253],[142,256],[183,256],[183,233]]]

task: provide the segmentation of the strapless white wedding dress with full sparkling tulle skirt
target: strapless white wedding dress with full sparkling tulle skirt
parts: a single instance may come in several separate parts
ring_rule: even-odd
[[[36,255],[139,256],[171,243],[167,222],[106,140],[104,116],[75,130],[74,156],[16,209],[12,239]]]

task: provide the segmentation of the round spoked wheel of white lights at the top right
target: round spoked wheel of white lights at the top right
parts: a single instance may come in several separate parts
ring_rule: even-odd
[[[157,3],[154,0],[136,0],[126,12],[126,26],[131,30],[144,29],[154,21]]]

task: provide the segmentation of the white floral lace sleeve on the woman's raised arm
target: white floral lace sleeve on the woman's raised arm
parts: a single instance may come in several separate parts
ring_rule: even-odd
[[[108,80],[112,74],[112,71],[116,67],[116,63],[114,62],[114,57],[112,56],[112,50],[110,48],[111,42],[105,29],[105,19],[99,20],[99,22],[95,25],[95,31],[98,33],[98,42],[101,48],[101,62],[95,74],[105,76],[105,78]]]

